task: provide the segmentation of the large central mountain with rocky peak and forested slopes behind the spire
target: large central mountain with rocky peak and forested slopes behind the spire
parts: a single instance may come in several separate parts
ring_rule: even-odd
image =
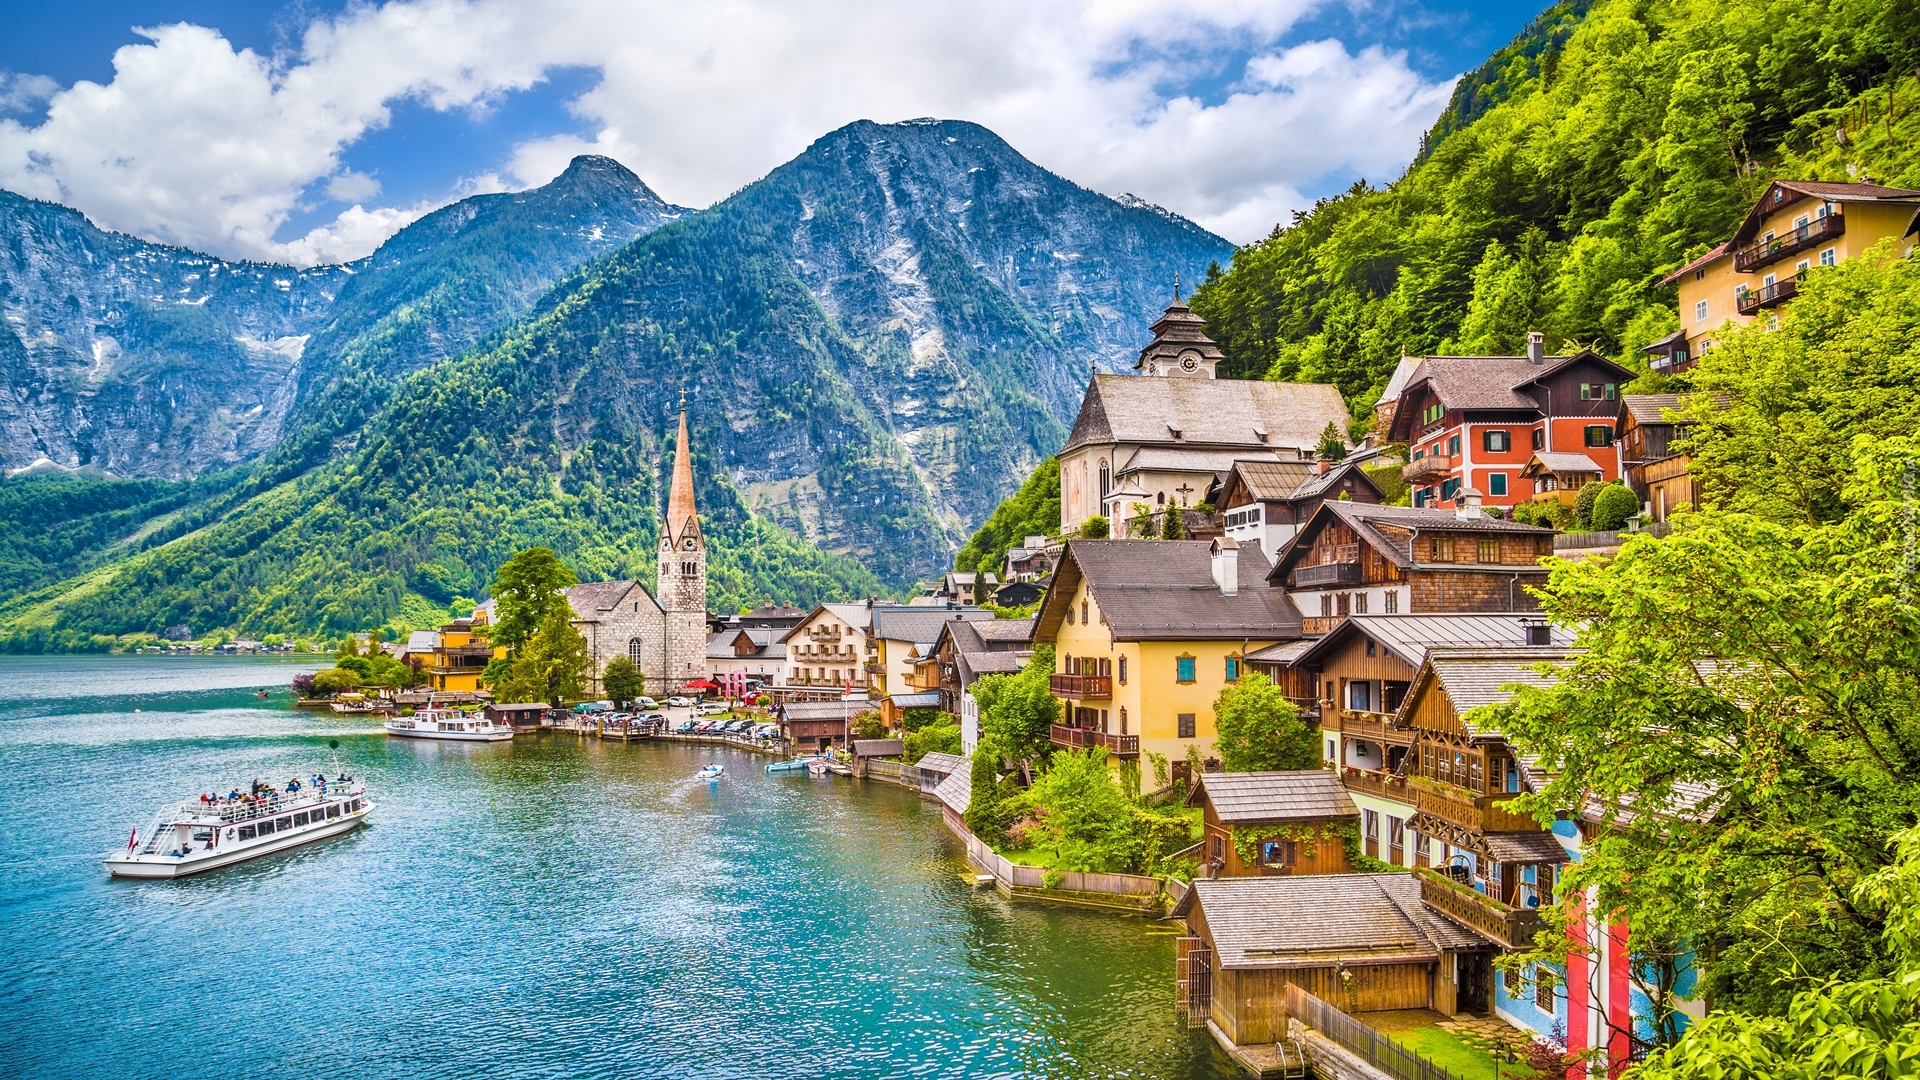
[[[1131,363],[1175,275],[1231,252],[977,125],[854,123],[397,377],[353,434],[305,442],[313,467],[276,469],[296,434],[244,500],[0,623],[15,648],[365,628],[480,596],[528,544],[651,578],[682,392],[716,609],[900,588],[1060,444],[1091,369]]]

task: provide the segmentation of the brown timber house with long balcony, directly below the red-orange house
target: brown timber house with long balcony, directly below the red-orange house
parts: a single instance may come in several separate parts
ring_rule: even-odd
[[[1538,611],[1553,530],[1459,509],[1325,502],[1267,577],[1319,636],[1348,615]]]

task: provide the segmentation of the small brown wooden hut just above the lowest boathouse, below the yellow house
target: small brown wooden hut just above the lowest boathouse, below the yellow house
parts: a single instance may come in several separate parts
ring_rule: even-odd
[[[1359,811],[1325,769],[1204,773],[1187,805],[1200,807],[1210,876],[1354,872],[1342,832],[1357,840]]]

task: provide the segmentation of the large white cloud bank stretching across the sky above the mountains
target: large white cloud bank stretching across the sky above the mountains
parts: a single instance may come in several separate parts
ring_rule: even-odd
[[[394,0],[313,23],[286,58],[171,25],[121,48],[109,85],[52,94],[40,125],[0,119],[0,186],[228,256],[355,258],[430,209],[367,209],[378,184],[342,169],[394,102],[486,108],[584,65],[603,73],[570,104],[588,135],[501,148],[499,173],[449,177],[449,198],[597,152],[705,206],[852,119],[941,115],[1250,240],[1327,175],[1396,173],[1446,104],[1400,54],[1284,44],[1317,2]],[[1225,94],[1187,90],[1248,54]],[[317,181],[353,206],[276,242]]]

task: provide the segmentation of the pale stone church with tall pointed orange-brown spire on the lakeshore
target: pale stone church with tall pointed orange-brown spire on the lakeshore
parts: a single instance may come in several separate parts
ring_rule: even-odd
[[[607,661],[624,655],[647,676],[647,694],[680,694],[707,678],[707,536],[693,507],[693,452],[680,413],[674,480],[660,519],[659,596],[637,580],[597,580],[566,590],[572,625],[593,659],[589,694],[601,694]]]

